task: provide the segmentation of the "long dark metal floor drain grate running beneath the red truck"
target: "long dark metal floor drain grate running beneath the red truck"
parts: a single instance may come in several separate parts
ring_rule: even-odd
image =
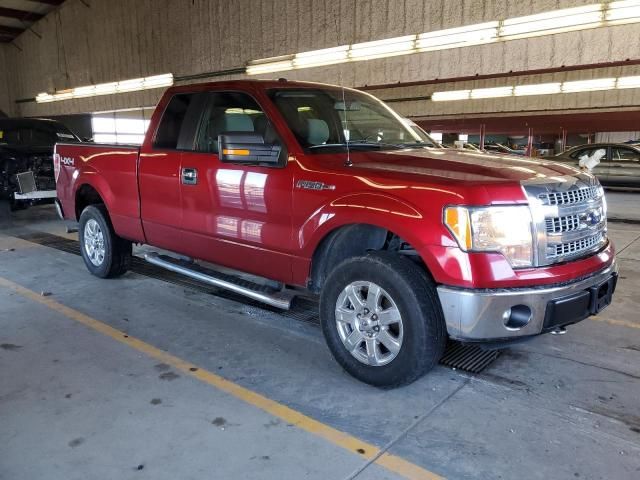
[[[17,238],[36,243],[44,247],[54,248],[63,252],[80,255],[80,245],[77,240],[59,237],[46,232],[24,233],[16,235]],[[139,257],[134,257],[131,262],[131,271],[146,277],[162,280],[167,283],[179,285],[191,290],[215,295],[217,297],[233,300],[243,305],[260,310],[275,312],[288,318],[319,325],[318,302],[314,298],[297,297],[294,299],[290,310],[280,310],[270,307],[255,300],[247,299],[242,295],[212,287],[209,284],[190,279],[184,275],[173,273],[155,265],[147,263]],[[484,350],[477,345],[462,344],[451,341],[447,345],[440,363],[447,367],[456,368],[470,373],[480,373],[487,368],[498,356],[499,350]]]

